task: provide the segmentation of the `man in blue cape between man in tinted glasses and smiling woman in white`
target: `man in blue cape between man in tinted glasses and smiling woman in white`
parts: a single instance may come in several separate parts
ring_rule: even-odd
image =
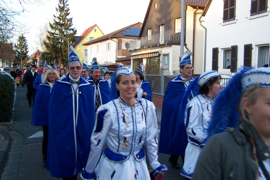
[[[101,68],[96,61],[97,58],[93,59],[95,61],[93,61],[91,66],[91,76],[89,76],[89,78],[87,78],[86,80],[91,83],[91,86],[93,88],[95,106],[97,110],[100,105],[109,102],[111,100],[111,97],[109,83],[105,79],[101,78]]]

